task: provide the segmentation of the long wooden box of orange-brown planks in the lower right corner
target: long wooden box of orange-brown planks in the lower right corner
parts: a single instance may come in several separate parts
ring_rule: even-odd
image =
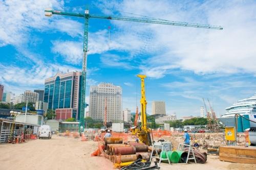
[[[220,147],[220,160],[256,164],[256,147]]]

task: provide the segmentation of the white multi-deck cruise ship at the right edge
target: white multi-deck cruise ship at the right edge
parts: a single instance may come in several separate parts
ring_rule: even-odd
[[[236,114],[240,114],[256,122],[256,94],[254,94],[250,98],[240,100],[230,107],[227,107],[226,113],[221,116],[219,120],[226,126],[233,127],[235,126],[234,115]],[[240,131],[244,131],[246,127],[256,127],[255,123],[249,122],[248,120],[244,118],[242,119],[241,117],[239,117],[238,122],[239,127],[242,128]]]

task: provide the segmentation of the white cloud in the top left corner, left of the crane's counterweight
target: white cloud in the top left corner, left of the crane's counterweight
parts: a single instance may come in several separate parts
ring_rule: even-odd
[[[63,1],[11,1],[0,3],[0,46],[22,45],[29,39],[32,29],[42,29],[49,25],[44,10],[47,7],[61,9]]]

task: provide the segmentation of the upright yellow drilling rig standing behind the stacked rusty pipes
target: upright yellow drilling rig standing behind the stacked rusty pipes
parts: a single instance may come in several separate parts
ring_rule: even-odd
[[[151,140],[151,130],[147,128],[146,123],[146,95],[145,95],[145,82],[144,79],[146,78],[145,75],[137,75],[141,79],[141,126],[137,126],[137,118],[138,118],[138,107],[136,109],[136,116],[135,116],[135,127],[132,129],[132,134],[136,134],[139,138],[139,141],[145,143],[146,145],[152,145]]]

